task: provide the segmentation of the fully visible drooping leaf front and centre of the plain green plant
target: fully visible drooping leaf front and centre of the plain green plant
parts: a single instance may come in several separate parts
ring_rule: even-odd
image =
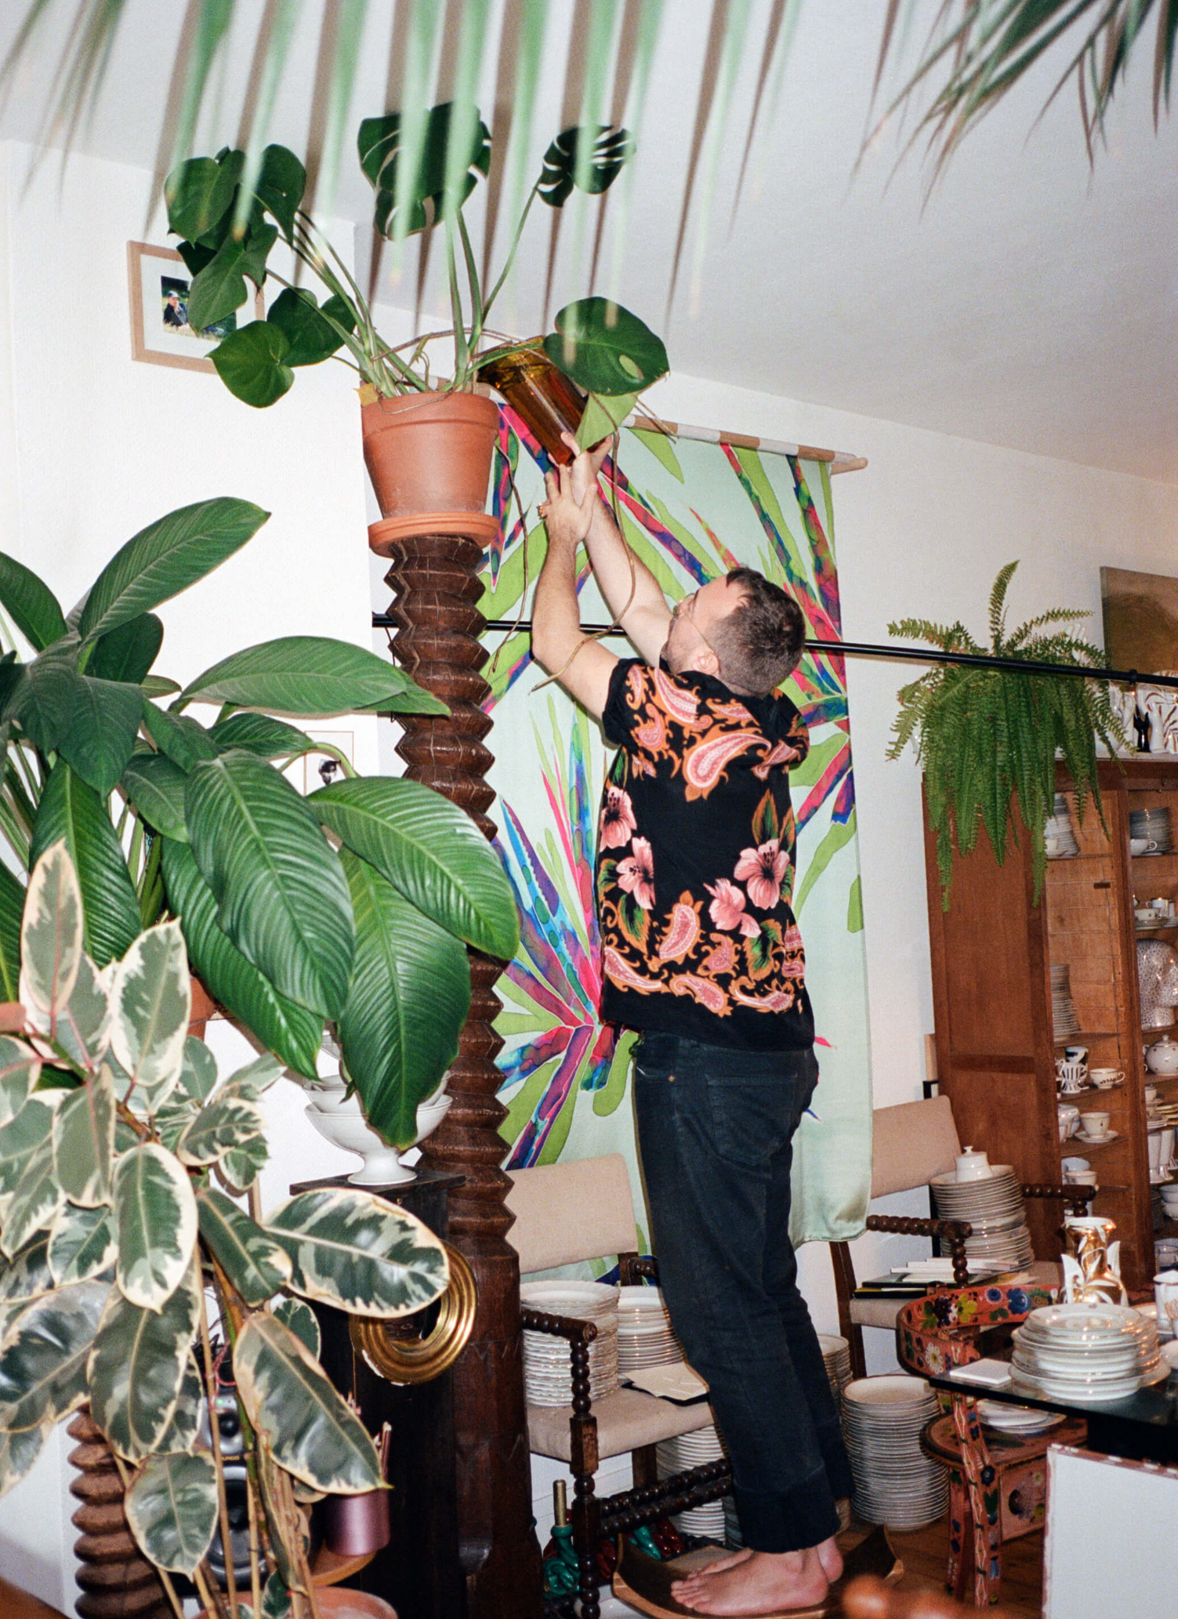
[[[352,973],[352,900],[306,801],[262,759],[227,753],[193,769],[185,819],[233,944],[280,994],[334,1017]]]

